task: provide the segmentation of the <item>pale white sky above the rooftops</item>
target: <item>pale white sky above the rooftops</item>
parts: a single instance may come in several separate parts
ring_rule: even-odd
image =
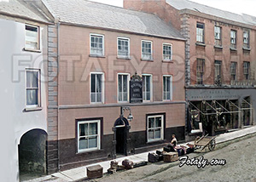
[[[123,7],[123,0],[90,0]],[[250,14],[256,16],[256,0],[190,0],[205,4],[216,9],[223,9],[236,14]]]

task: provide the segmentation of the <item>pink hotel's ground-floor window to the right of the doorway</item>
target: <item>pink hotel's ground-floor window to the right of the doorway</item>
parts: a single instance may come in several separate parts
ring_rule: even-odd
[[[148,142],[164,139],[164,116],[148,116]]]

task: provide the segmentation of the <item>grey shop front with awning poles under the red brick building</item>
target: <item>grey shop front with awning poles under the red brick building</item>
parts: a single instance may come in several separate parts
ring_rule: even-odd
[[[254,124],[255,89],[188,88],[187,132],[216,135]]]

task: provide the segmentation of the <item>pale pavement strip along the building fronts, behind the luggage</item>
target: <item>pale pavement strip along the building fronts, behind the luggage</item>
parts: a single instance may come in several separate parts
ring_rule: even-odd
[[[244,137],[248,134],[254,134],[254,133],[256,133],[256,126],[252,126],[252,127],[249,127],[249,128],[242,128],[242,129],[230,132],[230,133],[219,134],[216,137],[216,144],[218,145],[218,144],[221,144],[221,143],[233,140],[233,139],[238,139],[238,138]],[[189,142],[189,143],[193,143],[193,142]],[[178,144],[178,145],[183,145],[183,144]],[[132,162],[148,161],[148,152],[135,154],[135,155],[132,155],[132,156],[124,156],[124,157],[117,158],[115,160],[117,162],[119,162],[119,164],[121,164],[121,162],[125,159],[129,159]],[[106,162],[97,162],[97,163],[93,163],[93,164],[90,164],[90,165],[87,165],[87,166],[84,166],[84,167],[73,168],[73,169],[69,169],[69,170],[66,170],[66,171],[53,173],[49,176],[44,176],[43,178],[27,180],[26,182],[38,182],[38,181],[67,182],[67,181],[77,181],[77,180],[81,180],[81,179],[86,179],[86,177],[87,177],[86,168],[87,167],[99,164],[103,168],[103,173],[107,173],[108,168],[110,167],[110,162],[111,161],[112,160],[106,161]]]

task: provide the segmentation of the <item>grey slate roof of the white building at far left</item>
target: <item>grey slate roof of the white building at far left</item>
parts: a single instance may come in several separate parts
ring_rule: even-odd
[[[1,0],[0,14],[7,14],[12,16],[19,16],[30,20],[38,20],[41,22],[49,22],[49,19],[40,13],[36,6],[30,6],[22,2],[22,0]],[[29,3],[29,2],[28,2]],[[32,5],[32,3],[30,3]]]

